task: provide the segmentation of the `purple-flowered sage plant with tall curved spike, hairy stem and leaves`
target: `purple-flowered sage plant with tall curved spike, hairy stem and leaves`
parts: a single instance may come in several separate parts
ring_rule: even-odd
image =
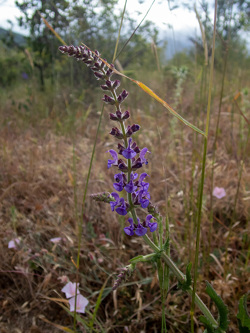
[[[87,47],[77,46],[60,46],[59,50],[68,56],[73,56],[77,60],[82,60],[87,66],[91,67],[97,80],[105,80],[105,84],[101,85],[101,89],[105,92],[102,100],[114,106],[115,112],[109,114],[110,120],[116,124],[111,128],[109,134],[118,140],[117,150],[110,149],[112,159],[108,160],[108,168],[117,168],[114,174],[114,189],[116,192],[102,192],[92,194],[90,197],[95,201],[103,201],[110,204],[111,210],[115,214],[128,215],[127,226],[124,232],[133,237],[142,237],[146,243],[153,249],[153,253],[148,255],[140,255],[130,260],[130,264],[121,269],[120,274],[113,286],[113,290],[117,289],[131,275],[138,262],[152,262],[156,264],[158,270],[158,279],[161,290],[161,300],[163,304],[162,311],[162,331],[163,325],[166,332],[166,322],[164,303],[169,288],[169,273],[166,267],[176,275],[179,281],[179,288],[192,295],[192,278],[191,263],[187,265],[186,274],[184,275],[170,259],[169,256],[169,232],[165,233],[165,242],[163,243],[163,217],[158,208],[151,201],[149,193],[149,175],[143,172],[143,166],[148,164],[147,155],[150,153],[146,147],[140,149],[135,141],[132,140],[133,135],[140,130],[137,124],[125,126],[130,118],[129,111],[121,111],[121,103],[128,97],[129,93],[123,90],[117,94],[120,87],[120,81],[111,80],[114,73],[114,66],[109,65],[105,59],[100,58],[99,52],[92,52]],[[109,93],[109,95],[107,95]],[[118,125],[119,124],[119,125]],[[117,126],[116,126],[117,125]],[[142,171],[141,171],[142,170]],[[125,191],[124,191],[125,190]],[[117,193],[118,192],[118,193]],[[123,195],[123,193],[125,195]],[[137,216],[138,207],[143,208],[145,217],[142,221]],[[166,228],[167,229],[167,228]],[[148,237],[152,233],[153,241]],[[165,265],[165,266],[164,266]],[[228,320],[228,310],[220,296],[218,296],[212,286],[206,282],[207,292],[215,302],[219,311],[219,323],[213,318],[212,314],[201,301],[198,295],[195,295],[195,303],[203,311],[205,316],[200,316],[200,320],[206,326],[206,332],[224,332],[226,331]]]

